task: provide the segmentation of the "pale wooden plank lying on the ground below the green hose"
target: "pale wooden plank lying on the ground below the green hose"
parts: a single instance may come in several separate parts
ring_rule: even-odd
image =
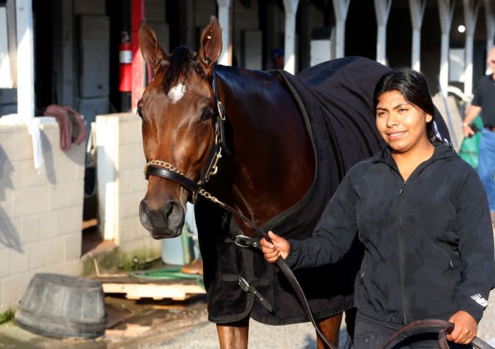
[[[124,293],[127,299],[164,299],[184,300],[194,294],[204,294],[206,291],[197,284],[142,284],[142,283],[102,283],[105,293]]]

